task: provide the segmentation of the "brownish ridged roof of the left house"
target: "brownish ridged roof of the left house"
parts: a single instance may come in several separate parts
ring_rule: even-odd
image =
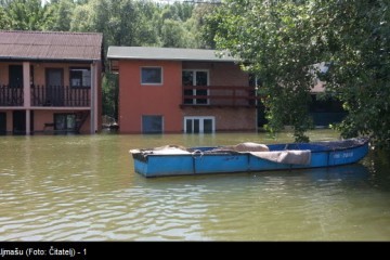
[[[100,61],[103,35],[0,30],[0,60]]]

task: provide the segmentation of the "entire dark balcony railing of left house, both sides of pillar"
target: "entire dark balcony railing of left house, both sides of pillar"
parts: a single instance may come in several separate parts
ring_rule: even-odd
[[[65,86],[31,86],[31,106],[88,107],[90,89]],[[0,86],[0,106],[23,106],[23,88]]]

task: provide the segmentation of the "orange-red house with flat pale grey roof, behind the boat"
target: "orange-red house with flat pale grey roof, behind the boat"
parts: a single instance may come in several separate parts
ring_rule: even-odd
[[[213,50],[109,47],[121,133],[255,131],[257,96],[237,61]]]

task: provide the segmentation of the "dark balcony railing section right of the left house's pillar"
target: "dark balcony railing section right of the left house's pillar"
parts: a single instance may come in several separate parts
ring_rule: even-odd
[[[90,106],[90,89],[67,86],[31,87],[32,106]]]

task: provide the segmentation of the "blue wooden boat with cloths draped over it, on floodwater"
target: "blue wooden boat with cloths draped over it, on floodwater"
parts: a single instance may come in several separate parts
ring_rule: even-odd
[[[192,148],[167,145],[130,153],[135,172],[144,177],[294,170],[354,164],[367,155],[368,138]]]

